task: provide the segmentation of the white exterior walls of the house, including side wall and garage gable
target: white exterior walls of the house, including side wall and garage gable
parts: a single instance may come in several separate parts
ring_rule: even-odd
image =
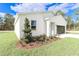
[[[27,14],[17,14],[18,20],[15,24],[15,33],[18,38],[23,37],[23,29],[24,29],[24,22],[25,18],[27,17],[28,20],[31,22],[31,20],[36,20],[36,30],[32,30],[32,36],[39,36],[43,34],[47,34],[46,32],[46,18],[49,18],[48,20],[50,22],[53,22],[54,25],[52,27],[54,30],[54,34],[56,34],[56,25],[63,25],[66,26],[65,19],[61,16],[54,16],[52,13],[27,13]]]

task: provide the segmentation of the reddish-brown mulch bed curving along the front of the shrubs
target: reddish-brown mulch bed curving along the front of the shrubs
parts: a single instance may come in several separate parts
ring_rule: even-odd
[[[59,39],[60,38],[54,38],[54,39],[50,39],[50,40],[48,40],[46,42],[36,41],[36,42],[28,43],[28,44],[26,44],[23,41],[18,41],[17,44],[16,44],[16,47],[19,48],[19,49],[32,49],[32,48],[37,48],[37,47],[40,47],[42,45],[52,43],[52,42],[57,41]]]

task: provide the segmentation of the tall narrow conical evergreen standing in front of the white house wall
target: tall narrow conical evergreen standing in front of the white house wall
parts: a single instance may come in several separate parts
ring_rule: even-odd
[[[25,24],[24,24],[24,41],[25,42],[32,42],[32,34],[31,34],[31,27],[29,24],[29,20],[25,18]]]

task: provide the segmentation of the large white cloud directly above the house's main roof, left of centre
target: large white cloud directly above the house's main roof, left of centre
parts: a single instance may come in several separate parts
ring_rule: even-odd
[[[14,10],[17,13],[21,12],[40,12],[45,10],[46,3],[23,3],[11,6],[11,10]]]

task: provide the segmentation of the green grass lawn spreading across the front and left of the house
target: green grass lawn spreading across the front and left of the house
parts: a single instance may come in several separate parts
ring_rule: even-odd
[[[0,32],[0,55],[79,55],[79,39],[65,38],[32,50],[17,49],[14,32]]]

